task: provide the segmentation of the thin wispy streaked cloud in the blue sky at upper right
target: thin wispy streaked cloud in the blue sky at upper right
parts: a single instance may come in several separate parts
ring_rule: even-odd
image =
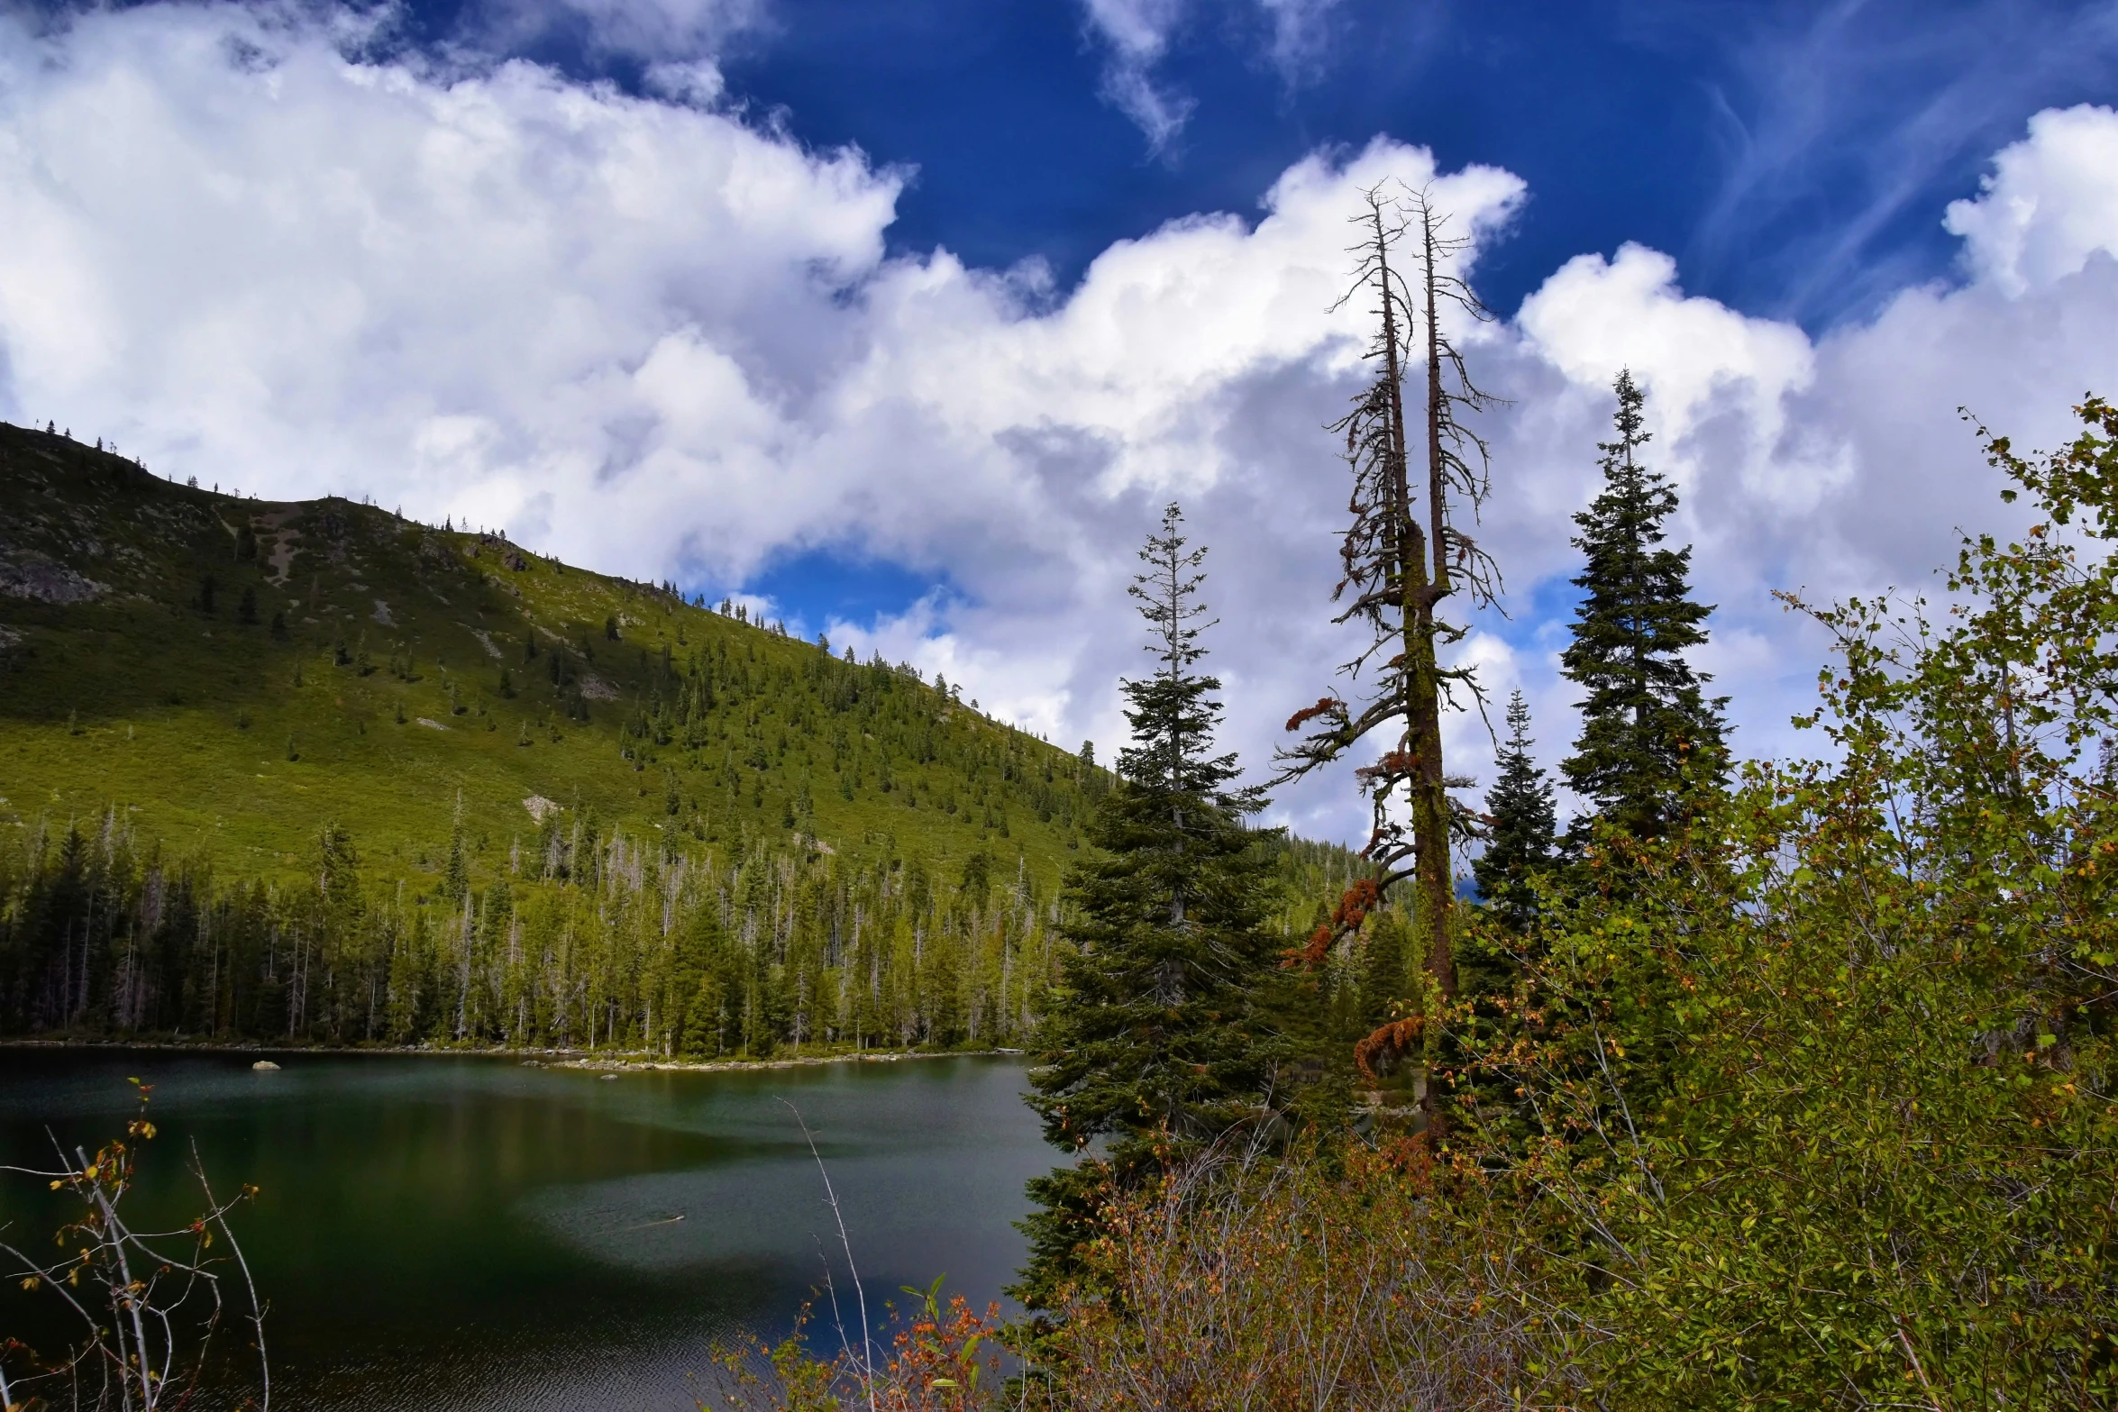
[[[1872,313],[1915,279],[1921,260],[1893,231],[1932,218],[1932,193],[2012,135],[2040,95],[2107,89],[2118,57],[2107,2],[1635,11],[1665,40],[1724,59],[1705,91],[1720,188],[1686,237],[1688,275],[1773,290],[1775,311],[1805,322]],[[2012,34],[2035,42],[1995,42]]]

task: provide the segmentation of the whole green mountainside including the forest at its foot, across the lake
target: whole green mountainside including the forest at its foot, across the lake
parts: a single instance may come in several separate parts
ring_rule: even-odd
[[[0,423],[0,1033],[1019,1044],[1110,785],[667,586]],[[1260,847],[1288,936],[1356,866]]]

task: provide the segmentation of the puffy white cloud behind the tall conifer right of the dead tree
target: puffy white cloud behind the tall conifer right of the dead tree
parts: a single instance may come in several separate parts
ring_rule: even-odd
[[[1959,531],[2016,519],[1959,406],[2018,445],[2054,445],[2069,402],[2118,387],[2118,205],[2095,165],[2110,127],[2101,110],[2038,114],[1985,191],[1949,207],[1966,282],[1900,290],[1821,339],[1688,298],[1675,263],[1639,248],[1578,256],[1525,301],[1516,354],[1565,381],[1525,383],[1502,459],[1544,485],[1533,504],[1578,506],[1591,442],[1610,434],[1603,387],[1620,362],[1641,375],[1650,455],[1684,489],[1675,538],[1697,546],[1699,593],[1720,605],[1705,665],[1735,696],[1743,752],[1813,747],[1785,720],[1826,644],[1773,589],[1934,595]],[[1516,563],[1567,563],[1561,525],[1514,529]],[[1572,730],[1552,627],[1540,622],[1542,673],[1525,671],[1548,684],[1540,716]]]

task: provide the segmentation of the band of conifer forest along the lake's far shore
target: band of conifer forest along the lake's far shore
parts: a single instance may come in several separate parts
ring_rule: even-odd
[[[1351,857],[1260,838],[1281,931]],[[301,885],[169,862],[116,811],[36,823],[0,853],[0,1033],[394,1046],[786,1050],[1006,1046],[1057,978],[1061,900],[972,853],[741,857],[546,819],[536,853],[472,887],[457,832],[438,876],[362,876],[320,830]]]

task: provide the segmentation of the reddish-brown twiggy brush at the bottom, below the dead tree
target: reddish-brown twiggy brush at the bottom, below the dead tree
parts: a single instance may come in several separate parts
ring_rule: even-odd
[[[1578,1406],[1555,1281],[1421,1139],[1324,1164],[1203,1162],[1123,1194],[1057,1310],[1065,1412]],[[1034,1384],[1029,1391],[1036,1391]],[[1029,1401],[1027,1406],[1038,1406]]]

